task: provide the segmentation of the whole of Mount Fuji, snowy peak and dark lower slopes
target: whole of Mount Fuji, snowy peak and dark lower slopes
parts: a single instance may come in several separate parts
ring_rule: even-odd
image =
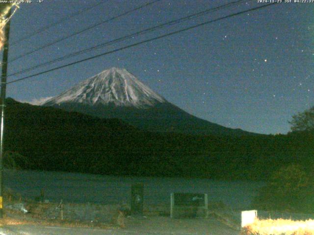
[[[192,116],[125,69],[111,68],[42,104],[100,118],[120,118],[140,129],[193,135],[254,135]]]

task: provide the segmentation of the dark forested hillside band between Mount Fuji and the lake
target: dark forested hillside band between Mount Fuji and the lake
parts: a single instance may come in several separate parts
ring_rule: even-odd
[[[265,180],[283,165],[311,172],[314,135],[189,136],[143,132],[119,119],[93,118],[7,99],[5,150],[26,169],[96,174]]]

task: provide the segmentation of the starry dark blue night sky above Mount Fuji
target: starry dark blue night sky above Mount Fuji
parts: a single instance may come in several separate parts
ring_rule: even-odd
[[[10,42],[99,0],[33,0],[12,19]],[[107,0],[9,49],[9,58],[142,5]],[[231,0],[161,0],[9,64],[9,73]],[[114,48],[260,6],[247,1],[182,24],[67,59],[8,81]],[[122,67],[168,101],[199,118],[257,133],[289,131],[293,114],[314,105],[314,3],[281,3],[9,84],[7,95],[54,96],[110,67]]]

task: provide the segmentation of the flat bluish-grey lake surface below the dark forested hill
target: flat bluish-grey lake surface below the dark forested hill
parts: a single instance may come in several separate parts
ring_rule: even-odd
[[[175,177],[122,177],[81,173],[4,170],[3,183],[23,197],[34,198],[44,189],[52,202],[130,203],[131,185],[144,184],[144,202],[169,204],[170,193],[208,193],[209,202],[221,201],[234,209],[245,209],[262,182],[184,179]]]

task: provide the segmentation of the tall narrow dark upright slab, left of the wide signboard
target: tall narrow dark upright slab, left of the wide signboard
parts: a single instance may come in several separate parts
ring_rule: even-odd
[[[143,215],[144,185],[134,184],[131,186],[131,214]]]

